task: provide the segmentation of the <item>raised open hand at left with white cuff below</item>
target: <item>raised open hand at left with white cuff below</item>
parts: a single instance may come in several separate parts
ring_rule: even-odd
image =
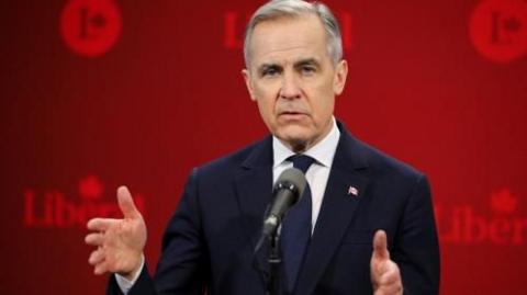
[[[146,225],[135,207],[126,186],[117,189],[117,202],[123,219],[93,218],[88,222],[86,243],[96,246],[88,262],[96,274],[119,273],[132,281],[141,271],[143,248],[146,243]]]

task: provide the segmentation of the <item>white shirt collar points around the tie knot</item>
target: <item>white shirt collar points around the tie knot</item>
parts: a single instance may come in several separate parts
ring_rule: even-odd
[[[340,132],[338,131],[335,117],[333,117],[332,131],[318,144],[306,150],[304,155],[314,158],[318,164],[332,167],[339,137]],[[294,155],[294,152],[283,145],[276,136],[272,136],[272,150],[274,158],[273,168]]]

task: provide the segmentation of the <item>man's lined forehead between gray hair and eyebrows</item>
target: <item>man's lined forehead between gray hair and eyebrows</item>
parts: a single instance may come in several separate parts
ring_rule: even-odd
[[[256,25],[250,41],[251,64],[327,58],[324,26],[314,14],[282,16]]]

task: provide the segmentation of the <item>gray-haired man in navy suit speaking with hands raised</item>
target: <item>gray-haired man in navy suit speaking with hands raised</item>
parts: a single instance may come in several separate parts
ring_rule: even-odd
[[[94,218],[86,237],[98,247],[89,258],[96,274],[116,273],[109,293],[265,294],[266,251],[253,251],[273,182],[303,157],[312,161],[302,198],[310,202],[311,224],[302,224],[310,232],[294,248],[301,251],[288,252],[283,241],[283,293],[437,294],[439,249],[426,178],[357,140],[333,116],[347,64],[330,11],[271,1],[251,18],[244,53],[243,76],[271,136],[192,171],[154,279],[143,257],[146,226],[120,188],[124,219]],[[300,203],[290,212],[300,212]],[[288,229],[299,223],[288,215],[283,240],[299,246]]]

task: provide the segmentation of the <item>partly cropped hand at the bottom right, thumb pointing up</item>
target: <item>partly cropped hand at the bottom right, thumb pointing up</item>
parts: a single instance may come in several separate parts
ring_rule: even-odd
[[[373,295],[401,295],[403,283],[397,264],[390,260],[386,232],[378,230],[373,237],[373,253],[370,261],[370,277]]]

